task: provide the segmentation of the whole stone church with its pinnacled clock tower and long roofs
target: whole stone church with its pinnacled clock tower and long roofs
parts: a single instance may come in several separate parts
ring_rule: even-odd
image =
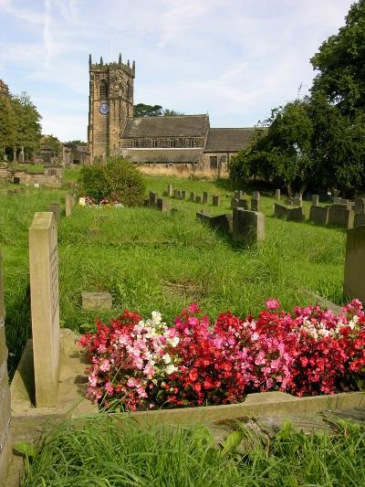
[[[89,56],[88,150],[91,164],[122,155],[138,164],[226,169],[254,128],[211,128],[209,116],[133,117],[135,63],[93,63]]]

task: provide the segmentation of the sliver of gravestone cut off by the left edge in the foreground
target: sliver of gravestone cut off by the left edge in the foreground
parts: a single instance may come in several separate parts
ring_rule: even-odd
[[[0,485],[5,485],[7,466],[12,457],[10,388],[7,376],[5,307],[0,252]]]

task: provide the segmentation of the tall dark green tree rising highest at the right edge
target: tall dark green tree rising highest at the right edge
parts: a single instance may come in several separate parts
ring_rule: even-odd
[[[365,0],[351,5],[345,26],[311,58],[318,75],[312,93],[321,92],[341,113],[365,109]]]

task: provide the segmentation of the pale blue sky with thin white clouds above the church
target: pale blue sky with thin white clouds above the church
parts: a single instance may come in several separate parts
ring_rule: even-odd
[[[136,62],[134,102],[250,127],[308,93],[353,0],[0,0],[0,79],[44,133],[87,140],[89,53]],[[301,88],[300,88],[301,87]]]

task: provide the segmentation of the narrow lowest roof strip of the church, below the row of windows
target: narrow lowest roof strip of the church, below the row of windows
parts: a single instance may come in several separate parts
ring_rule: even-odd
[[[122,155],[133,163],[199,163],[203,149],[123,149]]]

